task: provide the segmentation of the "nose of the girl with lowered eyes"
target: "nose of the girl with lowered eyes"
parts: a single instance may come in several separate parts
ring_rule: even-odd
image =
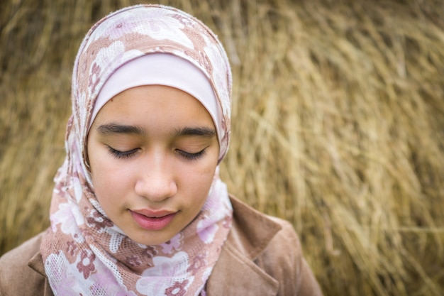
[[[135,193],[150,200],[162,202],[177,193],[174,170],[167,164],[165,157],[148,157],[140,163],[140,177],[135,183]]]

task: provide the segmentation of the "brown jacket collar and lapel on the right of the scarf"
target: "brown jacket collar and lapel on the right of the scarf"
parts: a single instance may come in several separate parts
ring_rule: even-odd
[[[233,226],[207,282],[207,294],[277,295],[279,283],[256,263],[282,226],[231,197]]]

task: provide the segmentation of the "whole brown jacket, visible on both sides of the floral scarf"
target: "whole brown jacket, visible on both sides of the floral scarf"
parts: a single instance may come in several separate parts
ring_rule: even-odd
[[[231,199],[233,228],[207,282],[207,295],[322,295],[291,224]],[[1,296],[53,296],[39,234],[0,258]]]

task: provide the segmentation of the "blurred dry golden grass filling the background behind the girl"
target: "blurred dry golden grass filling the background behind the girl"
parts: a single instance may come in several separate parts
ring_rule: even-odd
[[[135,1],[0,4],[0,254],[48,226],[74,55]],[[326,295],[444,294],[442,1],[161,1],[233,65],[231,192],[294,223]]]

